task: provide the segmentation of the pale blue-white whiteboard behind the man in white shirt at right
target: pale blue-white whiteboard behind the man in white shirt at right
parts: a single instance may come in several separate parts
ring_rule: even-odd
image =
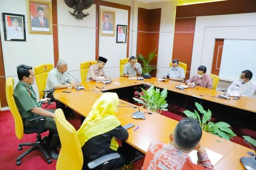
[[[233,81],[243,70],[250,70],[256,81],[256,40],[224,39],[220,79]]]

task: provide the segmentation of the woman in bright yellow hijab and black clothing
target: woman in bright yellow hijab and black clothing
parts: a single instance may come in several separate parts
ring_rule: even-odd
[[[106,92],[96,100],[92,111],[76,132],[84,155],[83,169],[89,169],[87,164],[103,155],[118,152],[118,143],[115,138],[124,141],[128,132],[121,126],[115,117],[119,98],[116,93]],[[126,163],[124,156],[108,162],[107,169],[114,169]],[[105,167],[104,167],[105,168]],[[101,169],[101,166],[96,167]]]

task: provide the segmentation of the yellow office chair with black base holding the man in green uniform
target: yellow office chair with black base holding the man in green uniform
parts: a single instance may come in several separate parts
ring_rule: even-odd
[[[33,133],[37,133],[37,137],[36,137],[36,141],[34,143],[20,143],[18,145],[18,150],[22,149],[22,146],[32,146],[30,149],[28,149],[26,152],[22,153],[20,156],[18,156],[18,158],[16,159],[16,165],[20,165],[21,164],[21,158],[25,157],[28,153],[34,151],[35,149],[40,149],[43,154],[45,155],[46,159],[47,159],[47,163],[50,164],[52,163],[52,160],[50,160],[50,157],[48,155],[48,153],[46,152],[46,150],[44,149],[44,146],[42,145],[43,141],[46,138],[41,139],[41,133],[43,133],[44,131],[44,123],[45,123],[45,116],[38,116],[36,118],[32,117],[30,119],[30,121],[36,120],[36,119],[40,119],[39,121],[39,125],[37,128],[25,128],[23,127],[23,121],[21,118],[20,113],[18,112],[15,100],[14,100],[14,78],[13,77],[9,77],[6,79],[6,83],[5,83],[5,90],[6,90],[6,99],[7,99],[7,103],[8,106],[11,110],[11,114],[14,118],[14,122],[15,122],[15,134],[17,136],[18,139],[22,139],[23,134],[33,134]]]

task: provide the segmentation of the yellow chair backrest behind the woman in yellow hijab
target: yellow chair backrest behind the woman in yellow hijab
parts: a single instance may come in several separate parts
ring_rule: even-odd
[[[62,109],[55,111],[54,119],[62,146],[56,170],[81,170],[84,158],[74,126],[65,119]]]

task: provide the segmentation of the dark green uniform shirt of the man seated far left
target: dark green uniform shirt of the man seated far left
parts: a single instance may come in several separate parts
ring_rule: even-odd
[[[19,81],[14,89],[14,100],[22,119],[36,116],[37,114],[32,113],[30,110],[35,107],[41,107],[33,87],[22,81]]]

